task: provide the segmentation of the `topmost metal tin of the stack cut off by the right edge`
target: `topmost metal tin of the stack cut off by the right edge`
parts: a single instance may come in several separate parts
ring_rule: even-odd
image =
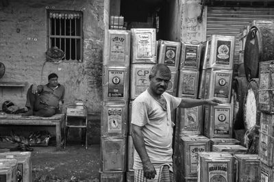
[[[274,60],[260,62],[259,74],[260,110],[274,114]]]

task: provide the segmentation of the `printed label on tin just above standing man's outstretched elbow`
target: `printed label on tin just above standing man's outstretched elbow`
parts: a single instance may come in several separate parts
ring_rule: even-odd
[[[195,95],[197,74],[183,73],[182,94]]]

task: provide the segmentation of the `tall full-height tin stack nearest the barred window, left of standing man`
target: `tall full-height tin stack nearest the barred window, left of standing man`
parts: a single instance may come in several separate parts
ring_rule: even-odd
[[[101,181],[125,181],[130,31],[105,31],[101,112]]]

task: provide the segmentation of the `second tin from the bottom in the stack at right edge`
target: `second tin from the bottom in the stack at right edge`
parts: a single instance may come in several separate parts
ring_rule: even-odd
[[[273,166],[274,163],[274,138],[260,131],[259,156],[260,161],[267,166]]]

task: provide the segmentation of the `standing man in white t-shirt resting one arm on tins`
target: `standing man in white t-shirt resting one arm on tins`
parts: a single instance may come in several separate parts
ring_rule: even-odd
[[[177,107],[218,105],[217,99],[184,99],[166,93],[171,70],[156,64],[149,75],[150,85],[132,103],[134,181],[173,181],[173,126],[171,111]]]

